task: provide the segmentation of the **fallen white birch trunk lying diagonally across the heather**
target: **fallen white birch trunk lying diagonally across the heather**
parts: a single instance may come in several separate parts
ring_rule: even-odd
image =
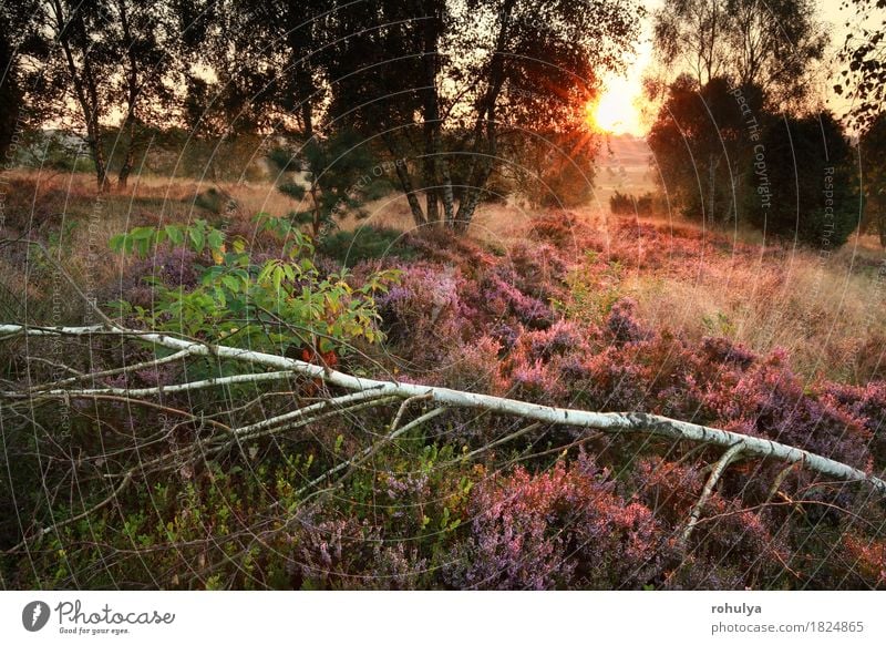
[[[321,379],[328,385],[337,386],[348,390],[360,392],[372,392],[379,397],[398,397],[410,399],[421,397],[427,401],[440,403],[450,408],[480,409],[487,412],[522,417],[535,421],[542,421],[558,426],[571,426],[576,428],[588,428],[615,434],[651,434],[667,437],[670,439],[720,446],[727,449],[735,449],[746,457],[758,457],[761,459],[775,459],[787,463],[800,463],[803,468],[826,475],[828,478],[844,481],[866,482],[874,489],[886,494],[886,482],[882,479],[863,472],[848,464],[815,454],[800,448],[785,446],[777,441],[750,437],[738,432],[708,428],[696,423],[688,423],[658,414],[643,412],[590,412],[586,410],[571,410],[566,408],[555,408],[527,403],[503,397],[464,392],[449,388],[433,386],[403,383],[396,381],[384,381],[375,379],[360,378],[340,371],[331,370],[322,366],[305,362],[293,358],[226,347],[220,345],[204,345],[193,340],[184,340],[165,334],[142,332],[120,327],[95,325],[91,327],[25,327],[22,325],[0,325],[0,340],[28,336],[121,336],[143,342],[152,342],[178,350],[186,356],[205,356],[224,359],[238,360],[253,366],[262,366],[276,370],[288,370],[293,375],[301,375],[311,379]],[[186,352],[186,354],[185,354]],[[256,380],[260,380],[260,375],[256,375]],[[214,379],[214,385],[224,386],[226,382],[235,382],[236,377]],[[275,375],[278,378],[278,375]],[[241,382],[238,380],[236,382]],[[183,386],[186,388],[186,386]],[[193,387],[193,386],[192,386]],[[164,388],[173,391],[172,388]],[[78,390],[69,390],[73,396]],[[45,391],[37,391],[30,396],[40,396]],[[21,392],[0,392],[0,398],[20,398]],[[740,448],[739,448],[740,447]]]

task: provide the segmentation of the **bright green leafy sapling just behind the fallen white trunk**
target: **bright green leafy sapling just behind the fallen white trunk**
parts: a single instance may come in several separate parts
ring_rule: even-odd
[[[280,351],[290,345],[344,350],[358,338],[382,338],[374,296],[387,291],[396,272],[373,274],[354,288],[346,272],[320,275],[310,238],[288,219],[262,213],[257,226],[282,240],[282,257],[256,264],[243,238],[235,237],[228,248],[225,233],[203,219],[115,236],[111,248],[117,253],[144,257],[166,243],[212,258],[195,286],[168,287],[155,280],[153,310],[121,303],[121,313],[135,314],[152,329],[259,350]]]

